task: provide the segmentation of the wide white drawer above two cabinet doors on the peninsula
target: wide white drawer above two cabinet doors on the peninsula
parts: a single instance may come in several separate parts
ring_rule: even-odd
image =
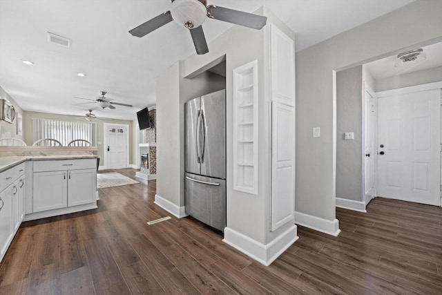
[[[97,159],[34,161],[34,172],[97,169]]]

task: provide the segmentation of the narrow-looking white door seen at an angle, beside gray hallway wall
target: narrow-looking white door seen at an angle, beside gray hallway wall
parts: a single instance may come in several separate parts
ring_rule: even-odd
[[[375,99],[373,91],[365,85],[364,90],[364,191],[365,204],[368,204],[374,194],[376,187],[374,183],[374,131],[376,131]]]

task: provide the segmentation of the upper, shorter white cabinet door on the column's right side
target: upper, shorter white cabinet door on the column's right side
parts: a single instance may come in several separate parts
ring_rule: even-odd
[[[271,101],[294,106],[294,41],[275,25],[270,26]]]

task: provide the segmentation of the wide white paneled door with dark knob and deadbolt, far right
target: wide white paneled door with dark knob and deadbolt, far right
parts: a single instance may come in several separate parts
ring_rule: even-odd
[[[378,196],[440,206],[441,90],[378,99]]]

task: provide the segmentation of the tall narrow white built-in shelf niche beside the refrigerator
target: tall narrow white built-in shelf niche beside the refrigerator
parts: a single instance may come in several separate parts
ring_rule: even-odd
[[[233,70],[233,189],[258,194],[258,60]]]

